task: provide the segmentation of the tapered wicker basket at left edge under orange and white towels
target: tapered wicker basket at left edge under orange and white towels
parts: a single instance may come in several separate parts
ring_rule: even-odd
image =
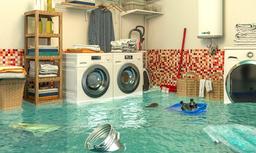
[[[0,109],[20,108],[25,79],[2,79],[0,81]]]

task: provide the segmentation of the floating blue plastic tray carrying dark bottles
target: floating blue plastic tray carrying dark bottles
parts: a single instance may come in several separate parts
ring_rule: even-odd
[[[183,112],[183,113],[187,113],[187,114],[198,114],[201,111],[206,111],[206,104],[205,103],[197,103],[197,105],[198,105],[198,108],[193,110],[193,111],[183,111],[180,108],[181,107],[180,103],[174,104],[174,105],[172,105],[170,107],[166,107],[164,109],[168,109],[170,111],[179,111],[179,112]]]

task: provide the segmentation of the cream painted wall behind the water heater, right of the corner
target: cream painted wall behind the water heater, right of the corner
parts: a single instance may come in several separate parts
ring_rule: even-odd
[[[159,0],[164,15],[148,20],[148,49],[208,49],[205,39],[197,38],[197,0]],[[236,23],[255,22],[256,0],[223,0],[223,37],[215,39],[219,49],[232,46]],[[214,11],[214,10],[209,10]],[[211,24],[211,18],[206,19]]]

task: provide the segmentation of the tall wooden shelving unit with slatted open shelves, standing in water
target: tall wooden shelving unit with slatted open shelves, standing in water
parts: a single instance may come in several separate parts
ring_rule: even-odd
[[[24,26],[24,46],[25,46],[25,69],[26,71],[29,71],[29,61],[33,60],[35,61],[35,77],[27,77],[29,81],[27,81],[25,85],[25,101],[28,101],[30,103],[34,103],[35,105],[43,104],[43,103],[55,103],[55,102],[62,102],[62,12],[51,12],[51,11],[40,11],[40,10],[34,10],[24,13],[25,15],[25,26]],[[35,20],[35,31],[33,33],[28,33],[28,18],[34,17]],[[58,17],[58,33],[39,33],[38,32],[38,20],[39,17],[41,18],[47,18],[47,17]],[[56,32],[56,31],[54,31]],[[29,56],[28,55],[28,39],[33,38],[35,45],[35,56]],[[54,56],[39,56],[39,38],[47,39],[47,45],[51,45],[51,38],[57,38],[58,39],[58,55]],[[40,60],[53,60],[54,65],[58,66],[58,74],[57,77],[49,77],[49,78],[39,78],[39,61]],[[57,61],[57,62],[55,62]],[[28,83],[34,82],[34,88],[35,88],[35,99],[28,98]],[[39,85],[40,83],[48,83],[49,87],[51,86],[51,83],[53,82],[54,87],[58,88],[58,98],[55,99],[49,99],[49,100],[41,100],[39,101]]]

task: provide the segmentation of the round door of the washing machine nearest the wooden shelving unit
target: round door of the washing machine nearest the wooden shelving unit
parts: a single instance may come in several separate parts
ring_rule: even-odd
[[[83,73],[83,91],[92,98],[98,98],[105,94],[109,83],[108,70],[102,65],[92,65]]]

